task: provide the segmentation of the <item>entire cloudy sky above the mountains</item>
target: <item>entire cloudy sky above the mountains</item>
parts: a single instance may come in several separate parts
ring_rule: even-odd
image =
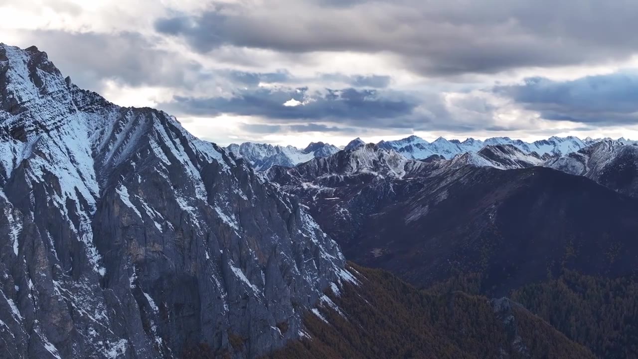
[[[634,0],[0,0],[0,42],[218,142],[638,139]]]

